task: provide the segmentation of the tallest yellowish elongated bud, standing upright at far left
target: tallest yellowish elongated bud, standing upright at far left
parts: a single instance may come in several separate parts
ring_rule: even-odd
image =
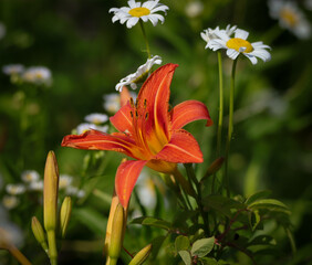
[[[56,227],[59,191],[59,168],[53,151],[50,151],[45,161],[44,184],[43,184],[43,216],[45,231]]]

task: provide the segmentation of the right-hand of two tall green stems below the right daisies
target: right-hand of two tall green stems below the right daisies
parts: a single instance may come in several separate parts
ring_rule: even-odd
[[[232,72],[231,72],[231,87],[230,87],[230,98],[229,98],[229,127],[228,127],[227,145],[226,145],[226,161],[225,161],[225,177],[223,177],[223,186],[226,187],[228,198],[230,197],[228,162],[229,162],[231,138],[233,132],[235,74],[236,74],[237,61],[238,57],[233,61]]]

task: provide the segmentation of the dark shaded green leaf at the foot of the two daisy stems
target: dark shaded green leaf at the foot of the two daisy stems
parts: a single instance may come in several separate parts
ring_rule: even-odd
[[[222,195],[208,195],[202,199],[202,203],[206,208],[212,208],[225,214],[227,218],[231,218],[232,209],[239,210],[246,208],[243,203]]]

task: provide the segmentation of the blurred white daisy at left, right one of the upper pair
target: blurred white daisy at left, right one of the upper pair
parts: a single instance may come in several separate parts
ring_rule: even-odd
[[[22,80],[37,85],[51,85],[52,74],[44,66],[32,66],[23,72]]]

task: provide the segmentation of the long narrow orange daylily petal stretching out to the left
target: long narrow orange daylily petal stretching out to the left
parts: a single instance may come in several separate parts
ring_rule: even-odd
[[[112,150],[136,158],[137,150],[129,137],[107,135],[98,130],[87,130],[82,135],[67,135],[62,140],[62,146],[87,150]]]

